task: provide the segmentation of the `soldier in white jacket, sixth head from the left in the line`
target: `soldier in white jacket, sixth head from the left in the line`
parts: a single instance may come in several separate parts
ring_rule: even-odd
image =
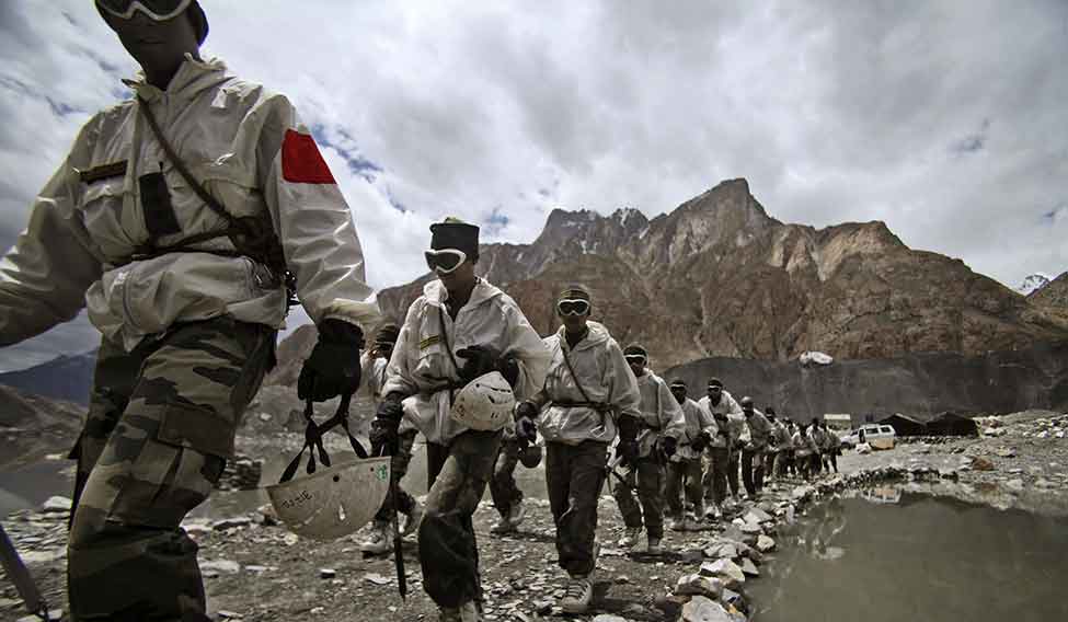
[[[675,456],[667,462],[667,507],[670,511],[668,528],[674,531],[697,531],[701,529],[697,517],[704,516],[704,494],[701,477],[701,454],[712,441],[716,426],[712,415],[700,404],[686,396],[686,381],[671,380],[671,395],[682,408],[686,429],[679,438]],[[679,499],[680,489],[686,491],[686,500],[693,506],[693,514],[685,514]]]

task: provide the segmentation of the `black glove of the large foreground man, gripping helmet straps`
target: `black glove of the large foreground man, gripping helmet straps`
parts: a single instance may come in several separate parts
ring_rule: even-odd
[[[359,350],[364,333],[359,326],[342,320],[323,320],[319,341],[305,359],[297,379],[297,396],[324,402],[359,389]]]

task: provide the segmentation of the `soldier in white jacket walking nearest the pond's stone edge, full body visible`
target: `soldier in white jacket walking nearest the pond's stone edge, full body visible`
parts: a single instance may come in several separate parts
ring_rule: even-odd
[[[597,502],[605,483],[608,446],[617,419],[641,416],[641,394],[623,352],[597,322],[589,321],[589,291],[579,285],[556,297],[563,326],[546,338],[552,355],[544,388],[516,407],[517,428],[546,438],[546,485],[556,526],[558,563],[571,577],[561,600],[565,613],[583,613],[593,598],[597,565]],[[622,425],[622,424],[620,424]]]

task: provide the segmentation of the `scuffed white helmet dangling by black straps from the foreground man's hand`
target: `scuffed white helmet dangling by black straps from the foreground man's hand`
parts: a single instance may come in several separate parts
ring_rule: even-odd
[[[390,459],[368,458],[267,486],[271,505],[290,531],[333,540],[375,516],[389,492]]]

